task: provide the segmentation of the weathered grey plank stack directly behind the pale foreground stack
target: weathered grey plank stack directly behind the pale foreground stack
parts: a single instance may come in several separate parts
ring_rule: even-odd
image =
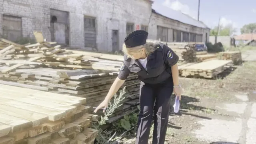
[[[118,72],[102,73],[102,70],[63,70],[53,68],[16,69],[0,75],[0,84],[44,90],[87,99],[88,106],[98,106],[104,100]],[[126,87],[125,100],[109,122],[113,122],[136,110],[139,104],[139,80],[130,74],[123,84]],[[102,113],[98,113],[102,114]]]

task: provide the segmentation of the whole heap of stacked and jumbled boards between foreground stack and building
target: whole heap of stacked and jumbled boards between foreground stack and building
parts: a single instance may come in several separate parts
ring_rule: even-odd
[[[36,44],[20,45],[5,39],[0,50],[0,84],[87,98],[96,107],[104,100],[118,75],[123,56],[65,50],[45,42],[34,32]],[[111,116],[113,122],[137,110],[138,76],[130,74],[123,84],[126,99]]]

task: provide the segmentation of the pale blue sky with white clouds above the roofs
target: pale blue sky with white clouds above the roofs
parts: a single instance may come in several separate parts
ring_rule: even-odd
[[[198,0],[154,0],[197,19]],[[208,27],[232,24],[240,34],[244,24],[256,22],[256,0],[200,0],[200,20]]]

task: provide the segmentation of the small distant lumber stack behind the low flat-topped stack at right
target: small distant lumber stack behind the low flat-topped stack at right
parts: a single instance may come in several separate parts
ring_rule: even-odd
[[[242,63],[242,54],[240,51],[219,52],[221,60],[232,60],[235,65]]]

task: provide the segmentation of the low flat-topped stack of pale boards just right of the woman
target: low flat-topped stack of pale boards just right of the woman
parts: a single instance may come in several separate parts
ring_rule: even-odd
[[[210,60],[196,64],[189,63],[180,66],[181,76],[196,78],[213,78],[232,65],[232,60]]]

